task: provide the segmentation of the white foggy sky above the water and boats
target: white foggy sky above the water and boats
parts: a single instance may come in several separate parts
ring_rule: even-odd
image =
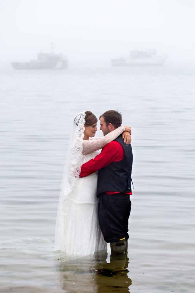
[[[195,0],[1,0],[0,62],[51,51],[69,64],[109,64],[154,48],[167,62],[195,64]]]

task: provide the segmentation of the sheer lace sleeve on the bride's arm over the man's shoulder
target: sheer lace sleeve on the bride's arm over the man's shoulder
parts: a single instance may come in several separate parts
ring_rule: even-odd
[[[112,140],[117,138],[123,131],[125,131],[125,128],[120,126],[99,139],[83,140],[83,155],[93,153],[95,150],[103,148],[107,143],[110,143]]]

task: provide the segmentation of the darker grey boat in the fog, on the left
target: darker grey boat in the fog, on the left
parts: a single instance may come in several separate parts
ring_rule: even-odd
[[[45,54],[40,52],[38,60],[30,62],[12,62],[15,69],[66,69],[68,67],[67,57],[63,54]]]

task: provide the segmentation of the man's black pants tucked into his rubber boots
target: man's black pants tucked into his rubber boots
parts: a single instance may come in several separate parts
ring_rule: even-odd
[[[128,235],[128,219],[131,212],[129,194],[100,194],[98,204],[99,224],[104,240],[115,242]]]

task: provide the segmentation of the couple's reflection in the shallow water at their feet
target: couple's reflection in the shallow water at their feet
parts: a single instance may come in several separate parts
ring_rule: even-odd
[[[59,273],[60,287],[69,293],[82,292],[130,292],[132,284],[128,277],[129,259],[125,254],[111,254],[106,261],[107,252],[95,253],[93,258],[61,258],[55,261]]]

